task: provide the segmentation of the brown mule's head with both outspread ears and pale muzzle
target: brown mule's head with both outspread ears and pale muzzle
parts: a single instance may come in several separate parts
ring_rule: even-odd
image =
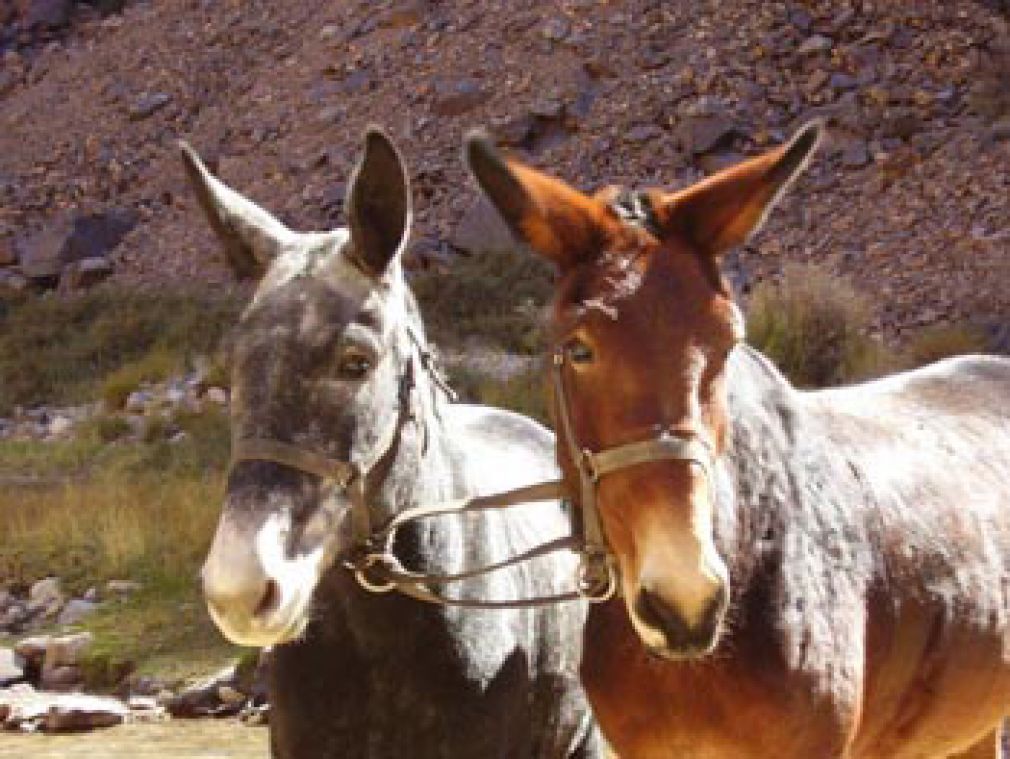
[[[742,243],[817,144],[812,124],[788,145],[679,192],[584,195],[501,158],[476,134],[467,160],[512,230],[560,272],[550,334],[562,361],[575,441],[600,452],[668,434],[714,456],[727,442],[726,361],[743,337],[720,258]],[[557,395],[557,394],[556,394]],[[643,643],[668,657],[700,656],[718,640],[729,577],[713,534],[716,493],[705,467],[658,460],[596,485],[628,614]]]

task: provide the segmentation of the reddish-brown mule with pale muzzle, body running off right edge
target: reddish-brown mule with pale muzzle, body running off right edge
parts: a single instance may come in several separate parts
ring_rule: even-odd
[[[819,135],[680,192],[593,196],[468,140],[559,270],[559,460],[574,492],[592,483],[623,595],[591,612],[582,676],[625,759],[996,756],[1010,361],[800,392],[739,345],[721,257]],[[587,471],[671,438],[708,454]]]

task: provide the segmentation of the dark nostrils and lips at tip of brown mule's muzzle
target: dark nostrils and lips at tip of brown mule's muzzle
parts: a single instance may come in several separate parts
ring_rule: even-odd
[[[726,591],[719,588],[696,619],[684,614],[658,593],[642,589],[634,600],[638,621],[663,637],[662,646],[650,652],[667,659],[690,659],[712,653],[718,642],[722,619],[726,613]]]

